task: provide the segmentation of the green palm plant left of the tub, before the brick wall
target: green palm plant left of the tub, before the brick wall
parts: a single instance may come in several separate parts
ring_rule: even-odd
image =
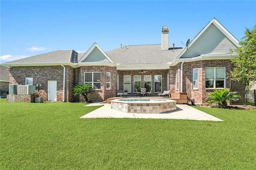
[[[76,85],[73,89],[73,95],[79,95],[79,96],[83,96],[84,100],[88,103],[88,98],[87,95],[92,93],[92,84],[90,83],[86,83],[84,85]]]

